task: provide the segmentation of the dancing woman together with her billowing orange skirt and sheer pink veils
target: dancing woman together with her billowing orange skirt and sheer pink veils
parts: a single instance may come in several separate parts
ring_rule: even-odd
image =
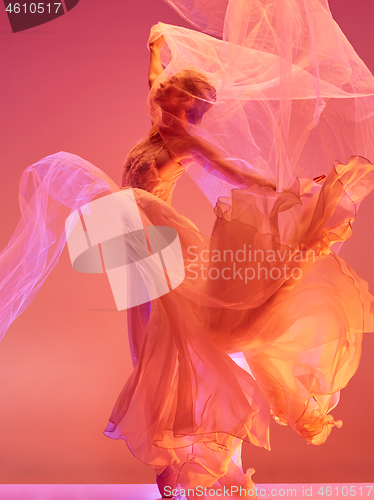
[[[251,471],[231,460],[236,448],[243,440],[269,448],[270,415],[323,443],[340,425],[329,412],[372,328],[367,286],[331,246],[349,237],[373,188],[373,165],[359,156],[331,164],[372,154],[373,77],[318,0],[175,7],[223,40],[167,25],[153,31],[153,51],[161,35],[167,41],[171,78],[153,82],[154,126],[130,153],[123,187],[133,188],[145,226],[177,231],[186,279],[150,311],[131,310],[135,368],[105,434],[126,439],[161,479],[172,467],[183,488],[218,480],[250,489]],[[191,163],[210,199],[229,195],[217,202],[210,239],[168,203],[178,161]],[[0,261],[3,331],[57,261],[66,241],[61,207],[117,191],[99,169],[66,153],[27,169],[24,226]],[[228,356],[235,352],[253,376]]]

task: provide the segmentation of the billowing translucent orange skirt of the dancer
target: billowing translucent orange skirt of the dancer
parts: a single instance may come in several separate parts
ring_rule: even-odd
[[[241,440],[269,449],[271,415],[322,444],[341,425],[329,412],[374,328],[367,283],[331,245],[350,236],[373,188],[374,166],[354,157],[324,182],[297,179],[282,193],[235,189],[218,200],[210,238],[135,190],[148,225],[167,221],[178,231],[186,278],[152,302],[146,326],[129,311],[138,363],[105,434],[125,439],[145,463],[173,464],[185,487],[230,474]],[[253,376],[227,355],[238,351]]]

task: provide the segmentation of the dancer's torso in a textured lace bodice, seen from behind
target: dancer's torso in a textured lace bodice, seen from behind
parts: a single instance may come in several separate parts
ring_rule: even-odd
[[[175,183],[183,172],[183,166],[176,161],[160,134],[153,128],[127,156],[122,187],[144,189],[171,203]]]

